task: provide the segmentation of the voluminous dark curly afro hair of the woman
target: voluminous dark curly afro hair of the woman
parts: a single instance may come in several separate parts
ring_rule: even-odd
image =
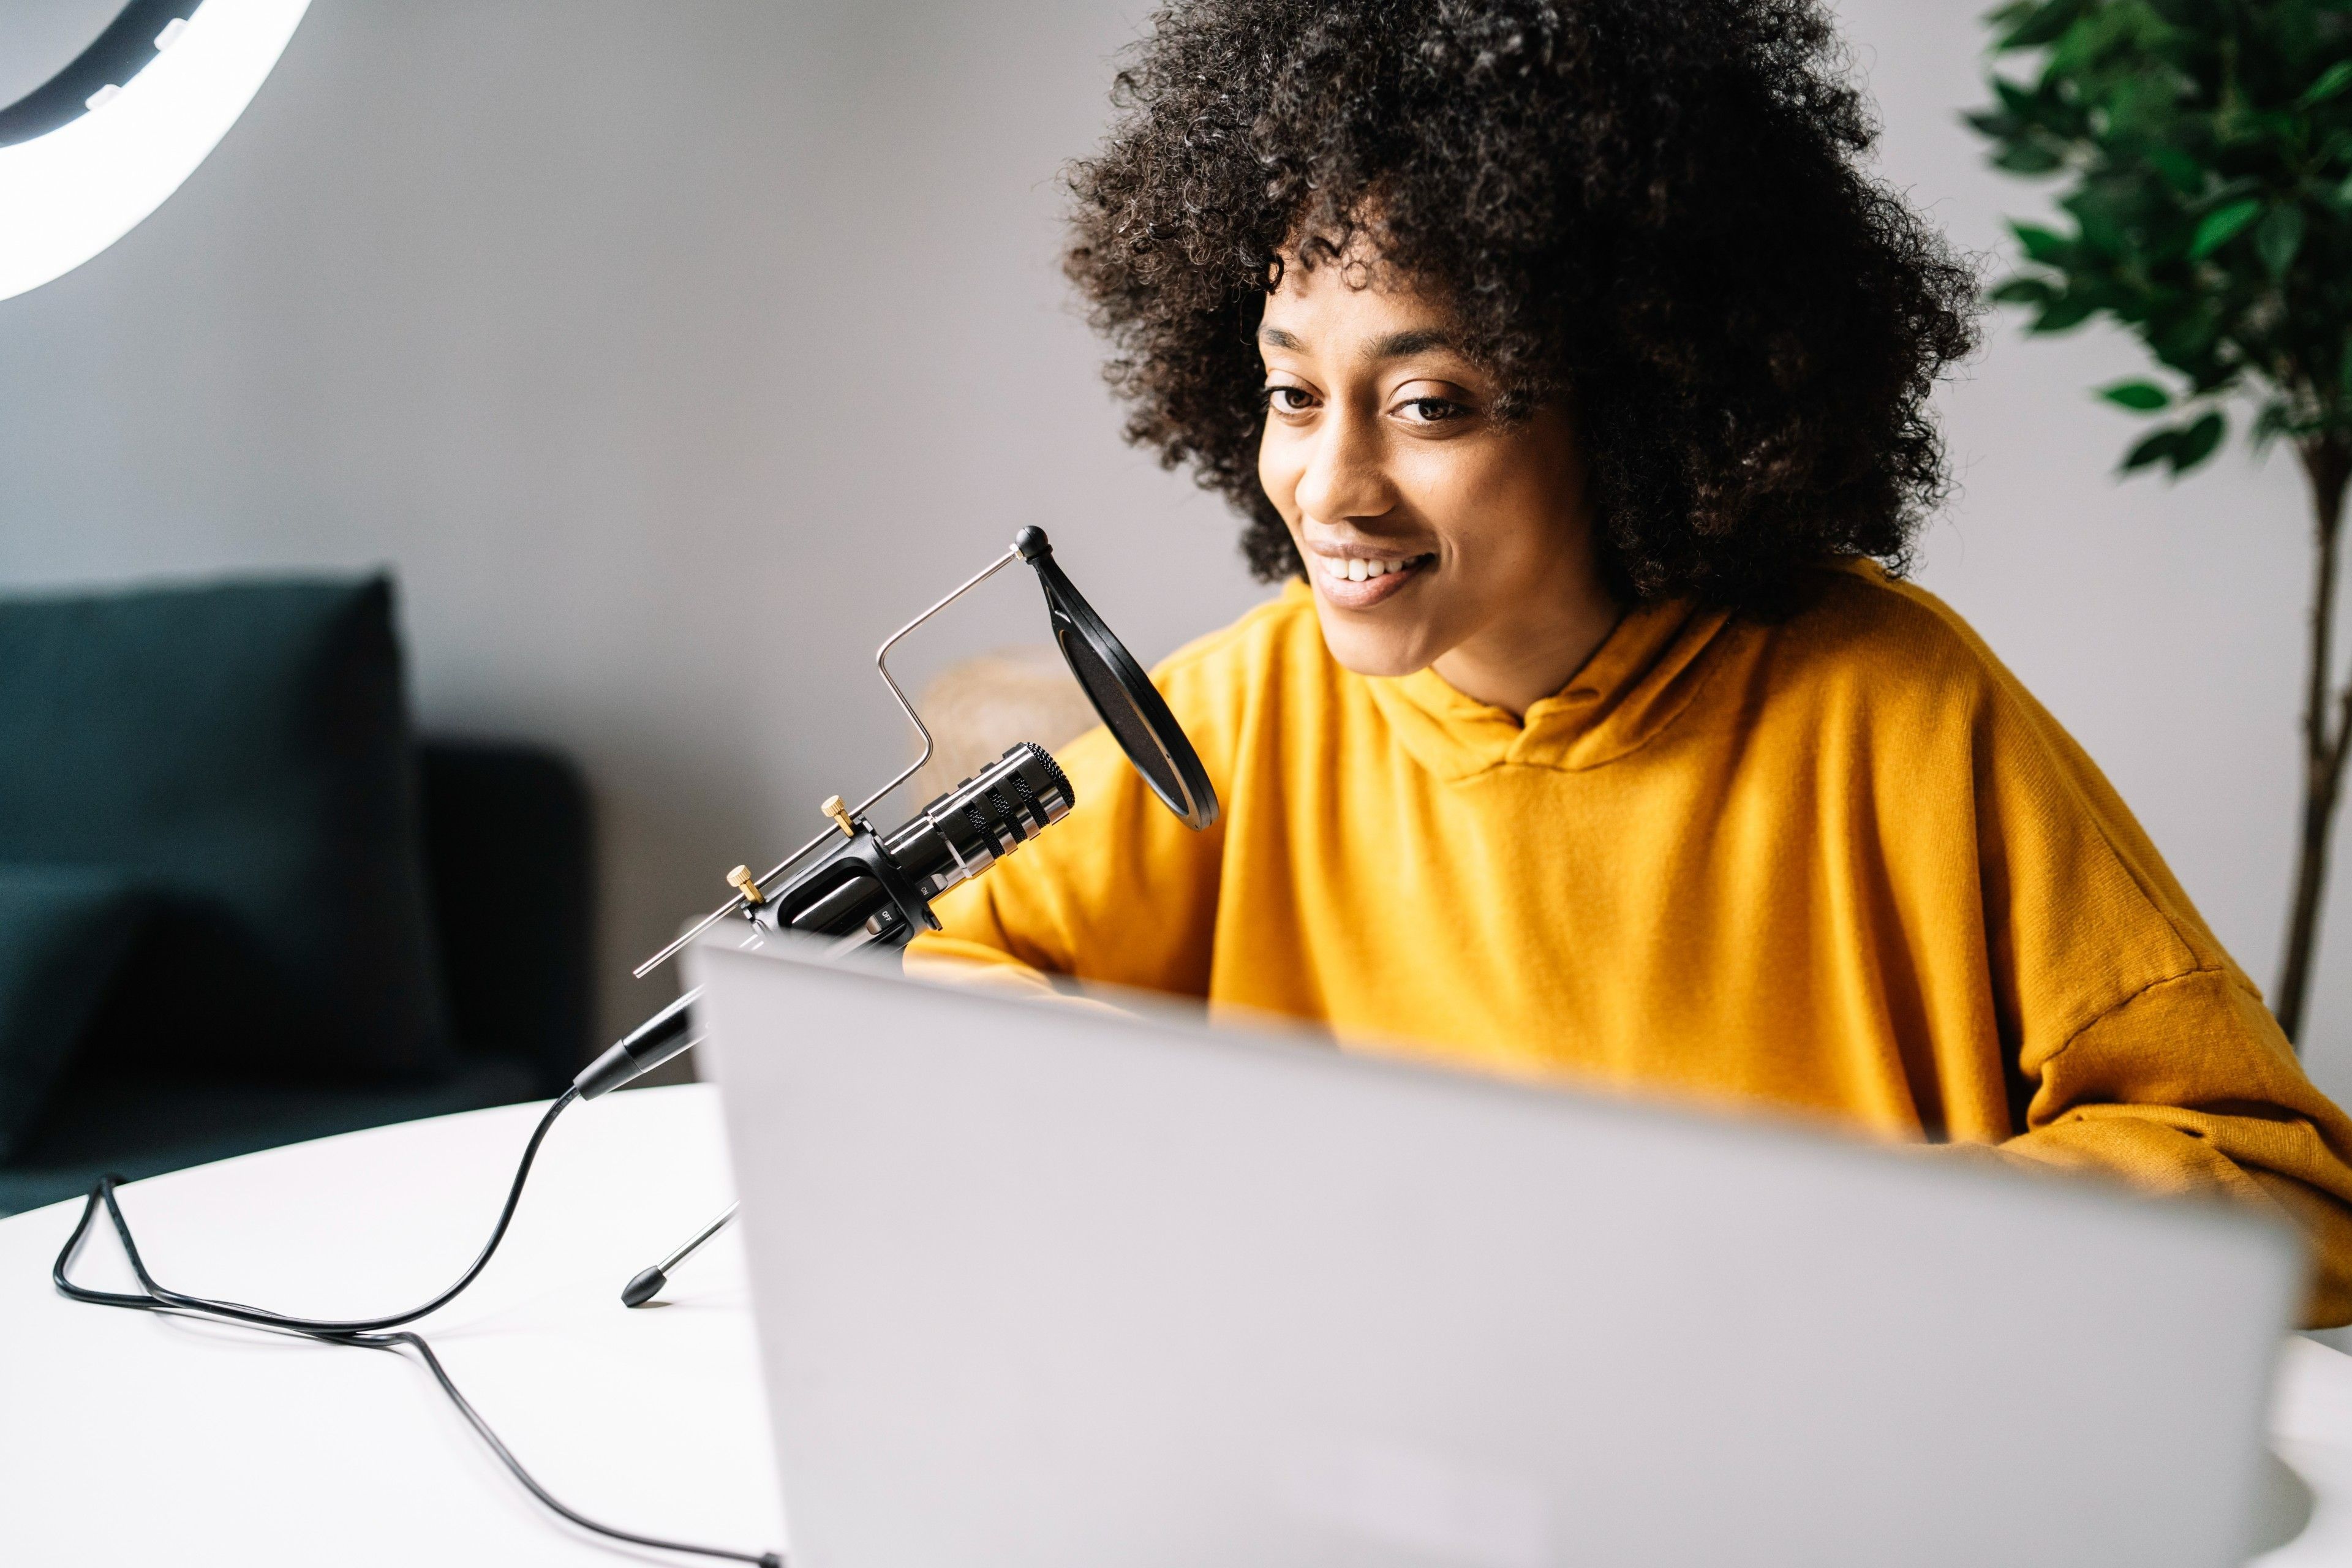
[[[1254,334],[1279,252],[1364,237],[1508,388],[1566,395],[1628,599],[1792,604],[1907,564],[1947,480],[1929,393],[1976,277],[1856,167],[1875,125],[1813,0],[1181,0],[1155,16],[1065,270],[1127,437],[1301,571],[1258,487]]]

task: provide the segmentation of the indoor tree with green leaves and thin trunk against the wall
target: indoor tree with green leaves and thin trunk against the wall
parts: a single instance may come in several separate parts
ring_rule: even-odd
[[[2232,421],[2286,442],[2312,503],[2303,820],[2272,1011],[2303,1027],[2328,835],[2352,755],[2333,656],[2352,482],[2352,0],[2018,0],[1992,12],[1992,162],[2058,183],[2053,223],[2011,223],[1992,289],[2027,331],[2114,320],[2147,376],[2100,390],[2157,421],[2122,473],[2173,477]],[[2002,71],[2011,63],[2011,71]],[[2023,71],[2016,71],[2023,66]]]

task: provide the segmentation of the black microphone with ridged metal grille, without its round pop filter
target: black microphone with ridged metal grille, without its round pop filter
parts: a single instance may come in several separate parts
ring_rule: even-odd
[[[971,882],[1070,816],[1075,804],[1070,776],[1054,755],[1023,741],[887,837],[863,818],[847,818],[844,842],[755,905],[750,917],[767,931],[903,947],[917,929],[938,931],[934,898]],[[579,1098],[595,1100],[701,1044],[701,1030],[694,1027],[696,997],[701,987],[588,1063],[572,1079]]]

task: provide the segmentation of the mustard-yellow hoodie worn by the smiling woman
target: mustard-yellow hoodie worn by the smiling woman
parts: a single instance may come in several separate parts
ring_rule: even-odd
[[[2131,811],[1933,595],[1632,611],[1515,719],[1350,675],[1305,585],[1162,665],[1225,802],[1103,731],[1068,820],[910,950],[2274,1206],[2352,1319],[2352,1121]]]

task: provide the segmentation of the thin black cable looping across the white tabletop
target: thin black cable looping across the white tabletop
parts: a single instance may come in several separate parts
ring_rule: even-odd
[[[388,1352],[397,1352],[402,1345],[414,1347],[416,1354],[423,1359],[426,1371],[433,1373],[433,1382],[437,1382],[442,1394],[449,1396],[449,1403],[454,1403],[459,1415],[466,1418],[466,1425],[470,1425],[475,1434],[480,1434],[480,1439],[489,1443],[489,1450],[499,1458],[501,1465],[506,1465],[506,1469],[517,1481],[522,1481],[524,1490],[529,1490],[532,1497],[536,1497],[560,1519],[567,1519],[569,1523],[576,1523],[579,1528],[593,1530],[609,1540],[626,1540],[633,1547],[654,1547],[659,1552],[684,1552],[689,1556],[717,1556],[734,1563],[755,1563],[755,1568],[783,1568],[783,1554],[779,1552],[734,1552],[729,1547],[696,1547],[682,1540],[637,1535],[633,1530],[621,1530],[609,1523],[597,1523],[595,1519],[588,1519],[586,1514],[564,1507],[562,1502],[555,1500],[555,1495],[548,1488],[543,1488],[532,1476],[532,1472],[522,1467],[522,1460],[515,1458],[515,1453],[499,1439],[499,1434],[489,1429],[489,1422],[482,1420],[482,1413],[475,1410],[473,1403],[459,1392],[456,1382],[452,1382],[449,1378],[449,1371],[440,1363],[440,1356],[433,1354],[433,1347],[426,1342],[421,1333],[414,1331],[381,1333],[388,1328],[400,1328],[402,1324],[414,1324],[428,1312],[449,1305],[466,1286],[470,1286],[482,1274],[482,1269],[489,1265],[489,1255],[499,1251],[499,1244],[506,1239],[506,1227],[515,1218],[515,1206],[522,1201],[522,1182],[532,1175],[532,1161],[539,1159],[541,1140],[546,1140],[548,1128],[555,1126],[555,1117],[560,1117],[564,1107],[572,1105],[572,1098],[576,1093],[579,1091],[567,1088],[553,1105],[548,1105],[548,1114],[541,1117],[539,1126],[532,1131],[532,1140],[522,1147],[522,1161],[515,1166],[515,1182],[506,1190],[506,1206],[499,1211],[499,1222],[492,1227],[489,1241],[482,1244],[482,1253],[473,1260],[473,1265],[459,1276],[454,1286],[449,1286],[447,1291],[428,1300],[423,1307],[416,1307],[412,1312],[397,1312],[393,1316],[381,1316],[381,1319],[332,1321],[332,1319],[287,1316],[280,1312],[263,1312],[261,1307],[245,1307],[240,1302],[221,1302],[205,1295],[186,1295],[181,1291],[172,1291],[158,1284],[155,1276],[148,1274],[146,1260],[139,1258],[139,1244],[132,1241],[129,1220],[122,1218],[122,1204],[115,1201],[115,1187],[122,1180],[120,1175],[103,1175],[99,1178],[99,1185],[89,1190],[89,1197],[82,1201],[82,1218],[75,1220],[73,1234],[66,1237],[66,1246],[59,1248],[56,1262],[49,1265],[49,1281],[68,1300],[89,1302],[94,1307],[125,1307],[129,1312],[207,1316],[230,1324],[247,1324],[254,1328],[278,1328],[285,1333],[303,1335],[308,1340],[318,1340],[320,1345],[353,1345],[358,1349],[388,1349]],[[127,1291],[92,1291],[89,1286],[78,1286],[66,1276],[66,1269],[73,1267],[75,1253],[82,1251],[82,1239],[89,1234],[89,1222],[96,1218],[101,1204],[106,1206],[106,1218],[115,1227],[115,1237],[122,1241],[122,1255],[129,1258],[132,1274],[139,1279],[141,1288],[139,1295],[132,1295]]]

